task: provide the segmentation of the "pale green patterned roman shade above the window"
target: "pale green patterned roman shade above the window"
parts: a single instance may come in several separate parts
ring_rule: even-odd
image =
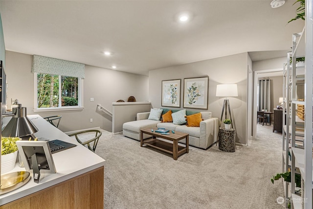
[[[85,65],[66,60],[34,55],[31,72],[85,78]]]

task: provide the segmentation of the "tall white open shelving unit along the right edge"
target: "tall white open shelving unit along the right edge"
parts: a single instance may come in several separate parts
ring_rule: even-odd
[[[305,27],[292,35],[292,52],[284,66],[283,172],[291,170],[291,183],[284,183],[286,197],[291,192],[291,208],[312,209],[313,199],[313,1],[305,2]],[[304,67],[296,66],[296,58],[305,57]],[[292,66],[289,60],[291,59]],[[304,86],[305,101],[297,101],[297,84]],[[296,113],[298,104],[305,106],[304,121]],[[284,111],[285,112],[285,111]],[[299,141],[303,140],[302,146]],[[289,160],[289,153],[291,159]],[[301,196],[296,194],[295,173],[301,174]],[[287,204],[286,204],[287,206]]]

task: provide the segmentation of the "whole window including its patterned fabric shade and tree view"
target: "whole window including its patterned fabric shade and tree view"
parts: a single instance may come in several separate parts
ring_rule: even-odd
[[[83,108],[85,65],[33,55],[34,112]]]

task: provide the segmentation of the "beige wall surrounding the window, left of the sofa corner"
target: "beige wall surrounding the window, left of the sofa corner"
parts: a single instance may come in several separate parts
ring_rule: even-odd
[[[11,98],[17,98],[23,107],[27,107],[28,115],[39,114],[43,117],[62,115],[59,129],[64,132],[93,127],[112,131],[112,117],[97,112],[97,104],[112,112],[112,102],[119,99],[127,101],[129,96],[134,96],[136,101],[148,101],[147,76],[86,66],[84,110],[34,113],[34,76],[30,72],[32,57],[28,54],[6,51],[8,103]],[[93,102],[90,101],[90,97],[94,98]],[[90,118],[93,118],[93,122],[90,122]]]

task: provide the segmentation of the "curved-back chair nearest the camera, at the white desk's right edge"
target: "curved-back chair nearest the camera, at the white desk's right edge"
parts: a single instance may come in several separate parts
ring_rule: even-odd
[[[91,136],[89,134],[91,134]],[[102,135],[102,132],[99,130],[85,130],[85,131],[79,131],[73,134],[69,134],[68,136],[70,137],[75,136],[76,140],[80,144],[84,146],[87,145],[88,149],[94,152],[96,150],[98,140],[101,137],[101,135]]]

